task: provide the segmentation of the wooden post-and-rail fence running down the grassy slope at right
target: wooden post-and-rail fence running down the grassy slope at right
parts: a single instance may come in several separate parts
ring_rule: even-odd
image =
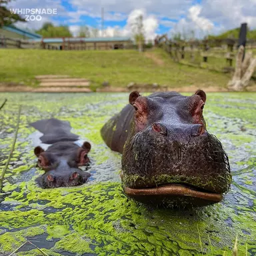
[[[238,40],[171,41],[163,35],[155,39],[155,45],[167,51],[173,61],[178,63],[230,72],[235,67]],[[246,49],[256,54],[256,40],[248,40]]]

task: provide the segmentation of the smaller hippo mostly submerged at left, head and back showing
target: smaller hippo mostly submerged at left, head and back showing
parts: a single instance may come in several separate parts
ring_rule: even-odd
[[[37,166],[45,173],[36,179],[42,188],[73,187],[86,183],[90,173],[81,171],[79,167],[88,165],[87,154],[91,144],[87,141],[77,145],[79,136],[71,133],[68,121],[59,119],[43,119],[30,123],[32,127],[43,133],[41,142],[51,144],[46,150],[41,146],[34,149],[38,158]]]

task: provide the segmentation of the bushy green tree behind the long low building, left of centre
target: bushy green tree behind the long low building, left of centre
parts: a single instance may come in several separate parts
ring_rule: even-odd
[[[69,27],[58,26],[55,27],[52,23],[44,23],[41,29],[36,31],[37,34],[43,37],[72,37]]]

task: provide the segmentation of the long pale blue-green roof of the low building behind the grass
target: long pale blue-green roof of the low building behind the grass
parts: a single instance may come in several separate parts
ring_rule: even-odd
[[[112,42],[112,41],[130,41],[130,37],[91,37],[91,38],[86,38],[86,37],[65,37],[66,42]],[[29,41],[33,42],[41,42],[43,43],[63,43],[63,38],[58,37],[58,38],[41,38],[41,39],[29,39]]]

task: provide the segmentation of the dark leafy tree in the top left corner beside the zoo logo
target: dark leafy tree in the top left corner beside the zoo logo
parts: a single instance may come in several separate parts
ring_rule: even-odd
[[[7,9],[7,3],[11,0],[0,0],[0,27],[11,25],[17,21],[25,22],[25,19]]]

